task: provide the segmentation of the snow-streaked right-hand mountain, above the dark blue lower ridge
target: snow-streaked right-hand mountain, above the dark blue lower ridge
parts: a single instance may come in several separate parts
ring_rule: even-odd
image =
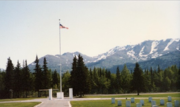
[[[136,45],[117,46],[95,57],[90,67],[109,68],[113,65],[147,61],[173,51],[180,51],[180,38],[167,40],[147,40]]]

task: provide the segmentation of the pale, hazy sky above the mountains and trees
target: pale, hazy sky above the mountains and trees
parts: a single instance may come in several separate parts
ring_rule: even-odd
[[[58,54],[59,19],[62,53],[180,37],[179,1],[0,1],[0,68]]]

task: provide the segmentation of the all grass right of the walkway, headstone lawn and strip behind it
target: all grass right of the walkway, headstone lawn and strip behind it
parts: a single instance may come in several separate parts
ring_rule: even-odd
[[[140,94],[137,96],[136,94],[117,94],[117,95],[86,95],[83,98],[124,98],[121,99],[122,101],[122,106],[125,107],[126,104],[126,98],[127,100],[130,101],[130,98],[134,97],[135,98],[135,103],[131,103],[131,107],[136,107],[136,103],[140,102],[140,98],[145,98],[144,103],[145,105],[143,107],[151,107],[151,103],[148,102],[148,97],[154,97],[156,99],[153,99],[156,101],[156,105],[160,107],[166,107],[167,103],[167,97],[171,96],[172,97],[172,104],[174,106],[174,100],[179,100],[180,101],[180,93],[144,93]],[[136,99],[138,98],[138,99]],[[160,105],[160,99],[164,99],[165,105],[162,106]],[[118,107],[117,103],[118,100],[116,99],[115,104],[111,104],[111,100],[91,100],[91,101],[71,101],[72,107]]]

